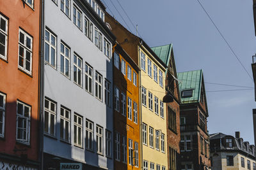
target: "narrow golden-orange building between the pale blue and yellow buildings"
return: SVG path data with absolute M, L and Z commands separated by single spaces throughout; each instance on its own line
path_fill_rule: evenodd
M 116 44 L 113 48 L 115 169 L 140 169 L 138 65 Z

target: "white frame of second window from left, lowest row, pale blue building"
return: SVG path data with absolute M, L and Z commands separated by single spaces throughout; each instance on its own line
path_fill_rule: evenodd
M 61 110 L 63 110 L 63 115 L 61 115 Z M 67 117 L 67 113 L 68 113 L 68 117 Z M 71 114 L 70 114 L 70 110 L 68 110 L 67 108 L 61 106 L 60 107 L 60 139 L 61 141 L 66 141 L 68 143 L 70 143 L 70 118 Z M 61 120 L 63 120 L 63 136 L 61 136 Z M 66 127 L 66 123 L 68 122 L 68 127 Z M 68 131 L 68 136 L 66 136 L 65 131 Z

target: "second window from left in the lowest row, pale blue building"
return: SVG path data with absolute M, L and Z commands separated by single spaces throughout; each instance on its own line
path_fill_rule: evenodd
M 60 138 L 70 142 L 70 111 L 60 108 Z

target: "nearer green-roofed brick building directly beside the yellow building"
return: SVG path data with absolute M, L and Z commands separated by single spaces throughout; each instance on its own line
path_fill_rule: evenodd
M 177 80 L 177 72 L 175 67 L 175 60 L 173 55 L 172 44 L 164 46 L 155 46 L 152 50 L 157 54 L 164 64 L 166 64 L 166 71 L 164 73 L 164 80 L 166 86 L 166 96 L 171 97 L 171 101 L 165 104 L 166 107 L 166 142 L 168 152 L 168 169 L 180 169 L 180 94 L 179 81 Z M 165 101 L 163 101 L 165 102 Z

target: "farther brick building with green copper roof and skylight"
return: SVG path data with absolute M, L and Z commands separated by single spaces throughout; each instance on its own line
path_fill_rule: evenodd
M 180 162 L 182 170 L 209 169 L 207 101 L 202 70 L 178 73 L 180 90 Z

